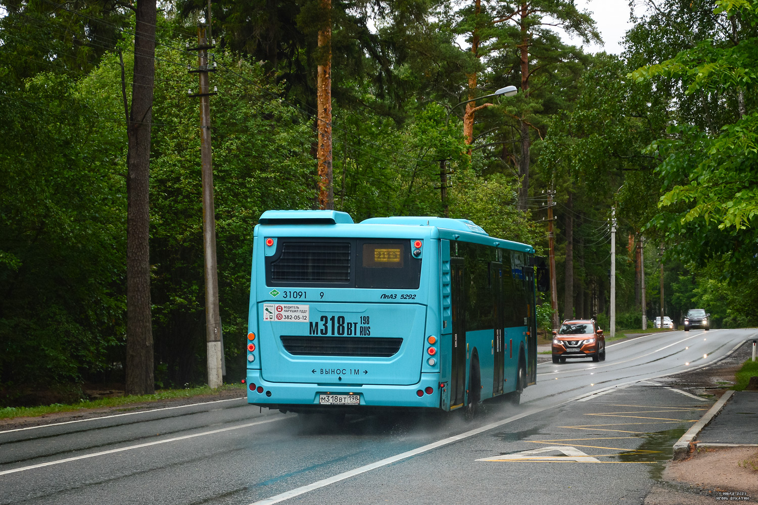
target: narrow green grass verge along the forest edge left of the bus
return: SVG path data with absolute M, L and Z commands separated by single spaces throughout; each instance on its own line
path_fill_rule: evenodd
M 216 394 L 221 391 L 240 389 L 244 390 L 244 384 L 224 384 L 221 388 L 211 389 L 207 385 L 197 388 L 186 389 L 161 389 L 155 394 L 120 396 L 113 398 L 100 398 L 99 400 L 80 401 L 76 404 L 52 404 L 40 407 L 5 407 L 0 409 L 0 419 L 13 419 L 14 417 L 37 417 L 57 412 L 75 412 L 82 409 L 97 409 L 101 407 L 121 407 L 130 404 L 143 404 L 154 401 L 170 400 L 172 398 L 188 398 L 202 396 L 203 394 Z

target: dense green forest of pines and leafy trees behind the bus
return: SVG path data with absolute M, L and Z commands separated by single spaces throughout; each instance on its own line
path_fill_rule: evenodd
M 543 255 L 552 211 L 558 315 L 603 328 L 615 209 L 619 328 L 658 315 L 661 286 L 675 321 L 758 324 L 758 0 L 631 3 L 609 55 L 556 31 L 601 42 L 572 0 L 0 0 L 0 407 L 124 382 L 139 142 L 155 387 L 205 382 L 199 26 L 228 381 L 253 226 L 324 207 L 324 180 L 356 222 L 448 214 Z

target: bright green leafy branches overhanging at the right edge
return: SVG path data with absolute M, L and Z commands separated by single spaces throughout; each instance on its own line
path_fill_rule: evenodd
M 673 246 L 667 256 L 690 264 L 697 279 L 686 289 L 684 280 L 678 283 L 678 303 L 689 298 L 704 304 L 730 325 L 754 321 L 753 310 L 730 312 L 732 302 L 744 307 L 740 301 L 747 297 L 748 305 L 758 303 L 758 114 L 750 111 L 758 92 L 756 5 L 716 2 L 709 17 L 703 8 L 713 27 L 705 40 L 629 74 L 638 82 L 684 89 L 675 95 L 681 98 L 675 117 L 682 120 L 672 121 L 666 136 L 646 151 L 659 161 L 663 189 L 649 226 Z M 694 108 L 703 115 L 692 120 L 690 105 L 699 98 L 715 98 L 722 113 Z

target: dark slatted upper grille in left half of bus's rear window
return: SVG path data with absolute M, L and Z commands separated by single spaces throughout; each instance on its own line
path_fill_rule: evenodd
M 271 263 L 274 281 L 349 282 L 350 244 L 284 242 L 280 257 Z

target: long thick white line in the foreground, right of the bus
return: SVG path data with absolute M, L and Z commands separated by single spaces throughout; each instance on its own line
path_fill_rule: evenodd
M 471 431 L 461 433 L 460 435 L 453 435 L 452 437 L 444 438 L 443 440 L 438 440 L 436 442 L 432 442 L 431 444 L 427 444 L 422 447 L 418 447 L 416 449 L 408 450 L 404 453 L 396 454 L 395 456 L 384 458 L 384 460 L 375 461 L 374 463 L 369 463 L 368 465 L 359 466 L 356 469 L 339 473 L 337 475 L 329 477 L 328 479 L 322 479 L 320 481 L 313 482 L 312 484 L 304 485 L 300 488 L 296 488 L 290 491 L 285 491 L 281 494 L 277 494 L 276 496 L 272 496 L 270 498 L 265 498 L 264 500 L 258 500 L 254 503 L 251 503 L 250 505 L 271 505 L 272 503 L 280 503 L 284 500 L 289 500 L 290 498 L 299 496 L 300 494 L 305 494 L 305 493 L 308 493 L 309 491 L 313 491 L 318 488 L 324 488 L 324 486 L 334 484 L 335 482 L 340 482 L 345 479 L 349 479 L 350 477 L 354 477 L 356 475 L 360 475 L 370 470 L 380 468 L 381 466 L 390 465 L 391 463 L 395 463 L 396 461 L 399 461 L 399 460 L 405 460 L 406 458 L 427 452 L 428 450 L 436 449 L 437 447 L 442 447 L 443 445 L 452 444 L 453 442 L 457 442 L 459 440 L 463 440 L 464 438 L 478 435 L 479 433 L 486 432 L 487 430 L 490 430 L 493 428 L 497 428 L 498 426 L 503 426 L 504 424 L 515 421 L 516 419 L 521 419 L 522 417 L 531 416 L 534 413 L 542 412 L 543 410 L 547 410 L 553 407 L 554 406 L 543 407 L 540 409 L 530 409 L 516 416 L 511 416 L 507 419 L 501 419 L 500 421 L 491 422 L 490 424 L 486 426 L 481 426 L 481 428 L 472 429 Z

